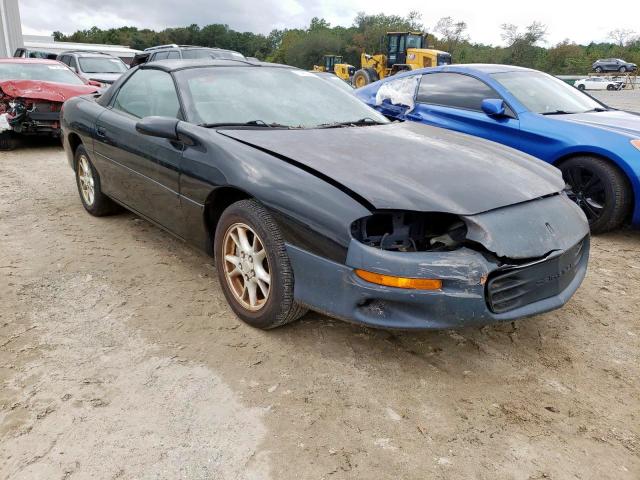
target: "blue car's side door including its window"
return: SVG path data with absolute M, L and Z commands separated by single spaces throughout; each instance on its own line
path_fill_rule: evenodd
M 481 108 L 485 99 L 502 99 L 483 81 L 461 73 L 423 74 L 408 120 L 476 135 L 519 148 L 520 122 L 505 103 L 504 116 L 491 117 Z

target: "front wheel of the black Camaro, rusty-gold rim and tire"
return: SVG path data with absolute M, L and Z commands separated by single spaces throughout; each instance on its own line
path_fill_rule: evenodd
M 280 230 L 255 200 L 222 213 L 214 252 L 224 295 L 243 322 L 266 330 L 306 313 L 293 298 L 293 270 Z

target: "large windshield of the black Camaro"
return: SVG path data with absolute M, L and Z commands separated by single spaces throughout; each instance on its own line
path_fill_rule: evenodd
M 349 92 L 303 70 L 207 67 L 180 70 L 175 77 L 192 123 L 313 128 L 363 119 L 388 122 Z

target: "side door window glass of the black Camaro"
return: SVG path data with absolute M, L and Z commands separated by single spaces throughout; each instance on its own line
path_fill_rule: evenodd
M 180 102 L 171 75 L 161 70 L 138 70 L 120 88 L 114 110 L 137 118 L 181 118 Z

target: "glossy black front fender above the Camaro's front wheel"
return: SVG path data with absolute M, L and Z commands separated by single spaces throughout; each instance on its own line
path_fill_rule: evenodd
M 184 151 L 180 193 L 201 207 L 200 222 L 211 192 L 233 187 L 269 209 L 287 243 L 344 263 L 351 223 L 369 215 L 367 208 L 285 160 L 215 131 L 188 124 L 181 128 L 193 145 Z

